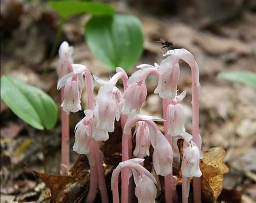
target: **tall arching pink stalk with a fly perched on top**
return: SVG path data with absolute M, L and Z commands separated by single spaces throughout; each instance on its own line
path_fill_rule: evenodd
M 192 89 L 192 134 L 193 140 L 201 149 L 199 134 L 199 67 L 194 56 L 186 49 L 175 49 L 167 52 L 167 55 L 176 55 L 178 59 L 184 60 L 191 68 L 191 89 Z M 201 180 L 193 178 L 194 202 L 201 203 Z

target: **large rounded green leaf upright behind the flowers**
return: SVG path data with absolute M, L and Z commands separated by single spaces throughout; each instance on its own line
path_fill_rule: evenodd
M 130 69 L 141 56 L 143 33 L 140 21 L 129 15 L 93 16 L 85 29 L 87 44 L 107 66 Z

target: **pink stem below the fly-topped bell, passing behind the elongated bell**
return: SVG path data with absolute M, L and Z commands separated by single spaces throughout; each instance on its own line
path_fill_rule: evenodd
M 164 120 L 167 120 L 167 107 L 169 105 L 169 99 L 163 98 L 163 117 Z M 165 137 L 172 146 L 172 137 L 168 136 L 168 123 L 167 121 L 164 122 L 165 127 Z M 165 176 L 165 202 L 172 203 L 173 202 L 173 174 L 169 174 Z

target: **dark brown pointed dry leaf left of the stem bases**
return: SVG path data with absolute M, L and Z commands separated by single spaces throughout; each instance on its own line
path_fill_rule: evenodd
M 68 184 L 75 182 L 74 178 L 70 176 L 54 176 L 50 174 L 36 172 L 34 170 L 31 170 L 30 168 L 27 169 L 36 174 L 51 190 L 52 201 L 54 201 L 57 198 L 58 194 L 61 191 L 65 190 Z

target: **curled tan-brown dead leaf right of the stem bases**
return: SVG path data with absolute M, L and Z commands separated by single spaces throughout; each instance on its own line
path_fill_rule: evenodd
M 223 174 L 229 172 L 228 166 L 223 163 L 225 150 L 222 146 L 211 148 L 205 152 L 201 160 L 202 195 L 209 202 L 216 202 L 223 187 Z

